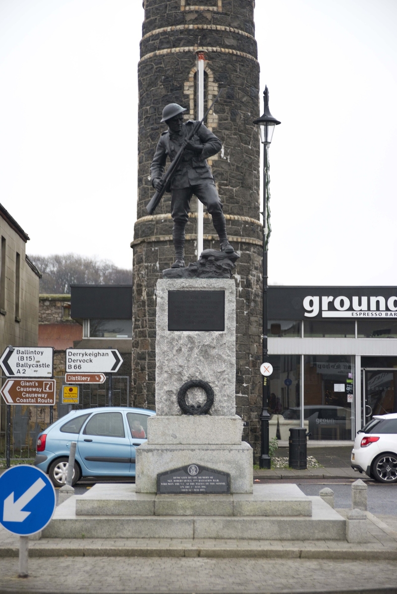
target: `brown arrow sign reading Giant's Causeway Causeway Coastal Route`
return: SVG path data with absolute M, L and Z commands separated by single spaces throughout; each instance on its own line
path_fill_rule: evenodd
M 6 380 L 0 393 L 8 405 L 55 405 L 55 380 Z

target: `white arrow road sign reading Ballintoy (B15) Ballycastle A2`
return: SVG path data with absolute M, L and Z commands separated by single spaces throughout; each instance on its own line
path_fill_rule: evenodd
M 5 375 L 52 377 L 52 346 L 8 346 L 0 358 Z

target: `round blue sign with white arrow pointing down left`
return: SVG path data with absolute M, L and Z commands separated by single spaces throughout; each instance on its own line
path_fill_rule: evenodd
M 55 511 L 55 489 L 42 470 L 13 466 L 0 476 L 0 524 L 29 536 L 45 528 Z

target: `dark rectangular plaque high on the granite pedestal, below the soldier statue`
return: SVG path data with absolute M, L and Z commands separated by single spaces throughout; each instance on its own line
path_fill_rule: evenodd
M 225 330 L 225 291 L 168 291 L 168 330 Z

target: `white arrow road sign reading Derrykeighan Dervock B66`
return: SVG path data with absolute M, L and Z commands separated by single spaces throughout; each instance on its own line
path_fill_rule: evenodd
M 116 349 L 66 349 L 67 373 L 115 373 L 122 361 Z

